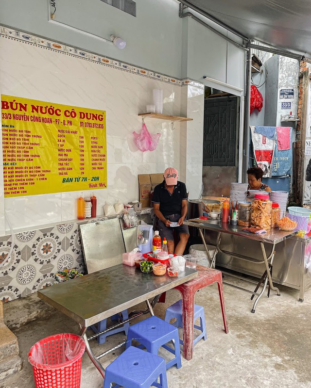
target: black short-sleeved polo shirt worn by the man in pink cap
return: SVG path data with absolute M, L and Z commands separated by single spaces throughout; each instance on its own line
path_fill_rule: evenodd
M 173 194 L 165 187 L 165 180 L 155 186 L 155 191 L 152 195 L 152 202 L 160 204 L 160 211 L 164 216 L 171 214 L 181 214 L 181 202 L 183 199 L 188 199 L 186 185 L 177 180 Z

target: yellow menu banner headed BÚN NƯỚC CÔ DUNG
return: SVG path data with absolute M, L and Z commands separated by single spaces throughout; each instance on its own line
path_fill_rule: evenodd
M 1 96 L 4 196 L 107 187 L 106 114 Z

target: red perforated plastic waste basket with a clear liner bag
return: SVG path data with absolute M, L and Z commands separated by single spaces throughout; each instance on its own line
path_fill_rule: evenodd
M 36 388 L 80 388 L 82 356 L 86 344 L 76 334 L 46 337 L 30 349 Z

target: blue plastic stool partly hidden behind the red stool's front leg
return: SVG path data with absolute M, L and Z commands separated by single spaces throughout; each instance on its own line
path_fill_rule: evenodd
M 166 309 L 165 313 L 165 321 L 170 322 L 171 319 L 176 318 L 176 322 L 172 323 L 176 327 L 183 327 L 183 313 L 182 313 L 182 300 L 180 299 L 178 302 L 174 303 L 172 306 Z M 200 318 L 200 326 L 195 324 L 195 321 Z M 193 339 L 193 346 L 201 339 L 207 339 L 206 333 L 206 324 L 205 324 L 205 314 L 204 307 L 199 305 L 194 305 L 194 316 L 193 316 L 194 328 L 201 331 L 195 339 Z M 180 344 L 183 345 L 184 341 L 182 339 L 179 340 Z

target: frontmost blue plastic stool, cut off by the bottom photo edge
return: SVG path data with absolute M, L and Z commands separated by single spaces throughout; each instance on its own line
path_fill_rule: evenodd
M 168 388 L 164 358 L 130 346 L 106 368 L 104 388 L 112 383 L 114 388 Z

